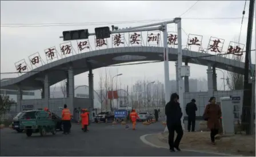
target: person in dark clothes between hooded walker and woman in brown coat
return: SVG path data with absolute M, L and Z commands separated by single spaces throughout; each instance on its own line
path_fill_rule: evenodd
M 195 100 L 192 99 L 191 102 L 186 105 L 186 114 L 187 114 L 187 131 L 190 132 L 190 127 L 192 123 L 192 132 L 195 131 L 195 116 L 197 111 L 197 105 L 195 104 Z

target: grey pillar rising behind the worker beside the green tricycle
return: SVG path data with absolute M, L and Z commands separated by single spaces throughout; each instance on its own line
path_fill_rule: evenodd
M 67 108 L 69 108 L 69 110 L 71 111 L 71 113 L 74 115 L 74 93 L 75 93 L 75 81 L 74 81 L 74 72 L 73 72 L 73 67 L 69 67 L 68 70 L 68 88 L 69 88 L 69 95 L 67 95 L 68 97 L 68 103 L 67 103 Z

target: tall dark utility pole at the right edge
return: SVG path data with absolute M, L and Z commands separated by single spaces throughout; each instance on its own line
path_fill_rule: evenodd
M 252 101 L 252 84 L 249 83 L 249 56 L 251 53 L 251 36 L 253 31 L 253 14 L 254 14 L 254 2 L 255 0 L 250 0 L 249 5 L 249 19 L 247 26 L 247 39 L 246 39 L 246 52 L 245 52 L 245 73 L 243 81 L 243 107 L 242 107 L 242 126 L 246 131 L 246 134 L 251 134 L 251 114 L 253 114 L 253 109 L 251 108 Z

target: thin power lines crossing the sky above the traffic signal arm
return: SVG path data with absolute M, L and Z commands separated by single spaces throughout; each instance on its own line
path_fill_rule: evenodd
M 241 17 L 236 18 L 182 18 L 191 20 L 228 20 L 228 19 L 242 19 Z M 247 19 L 247 18 L 243 18 Z M 97 26 L 103 24 L 129 24 L 129 23 L 148 23 L 148 22 L 159 22 L 172 19 L 151 19 L 151 20 L 131 20 L 131 21 L 119 21 L 119 22 L 84 22 L 84 23 L 1 23 L 1 27 L 53 27 L 53 26 Z

